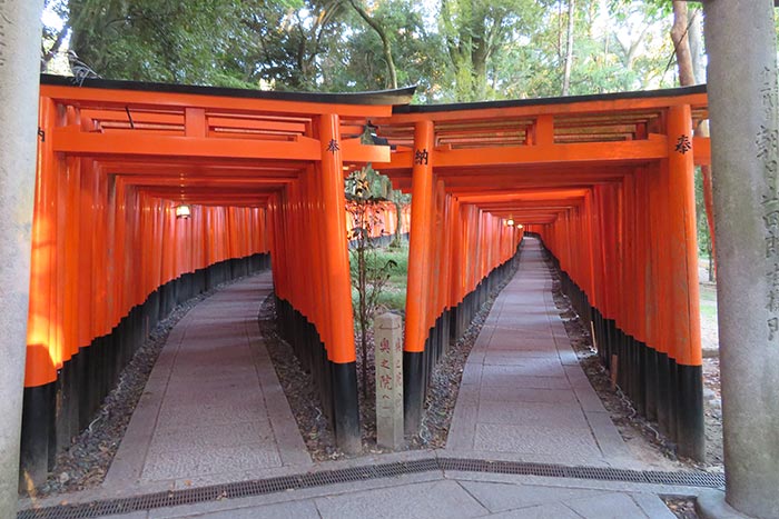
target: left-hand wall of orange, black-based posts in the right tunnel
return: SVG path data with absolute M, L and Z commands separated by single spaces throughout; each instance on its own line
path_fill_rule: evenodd
M 408 289 L 403 358 L 405 431 L 418 431 L 430 377 L 510 270 L 522 231 L 461 203 L 436 179 L 435 128 L 414 131 Z

